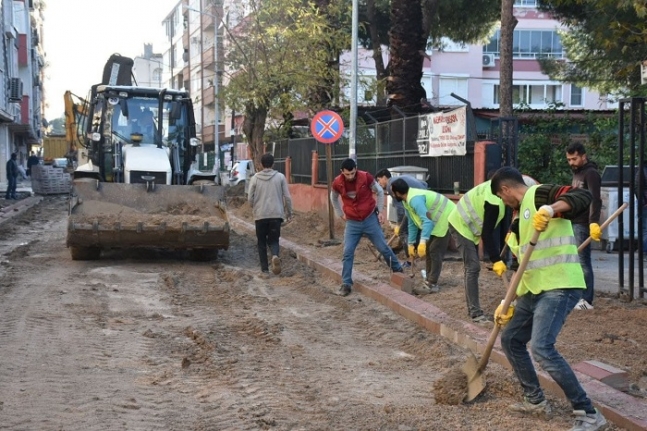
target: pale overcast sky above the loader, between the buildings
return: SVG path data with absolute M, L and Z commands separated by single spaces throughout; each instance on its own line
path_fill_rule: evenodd
M 114 53 L 136 57 L 144 43 L 163 52 L 162 20 L 179 0 L 47 0 L 42 35 L 45 50 L 45 118 L 63 116 L 66 90 L 87 97 L 101 81 Z

